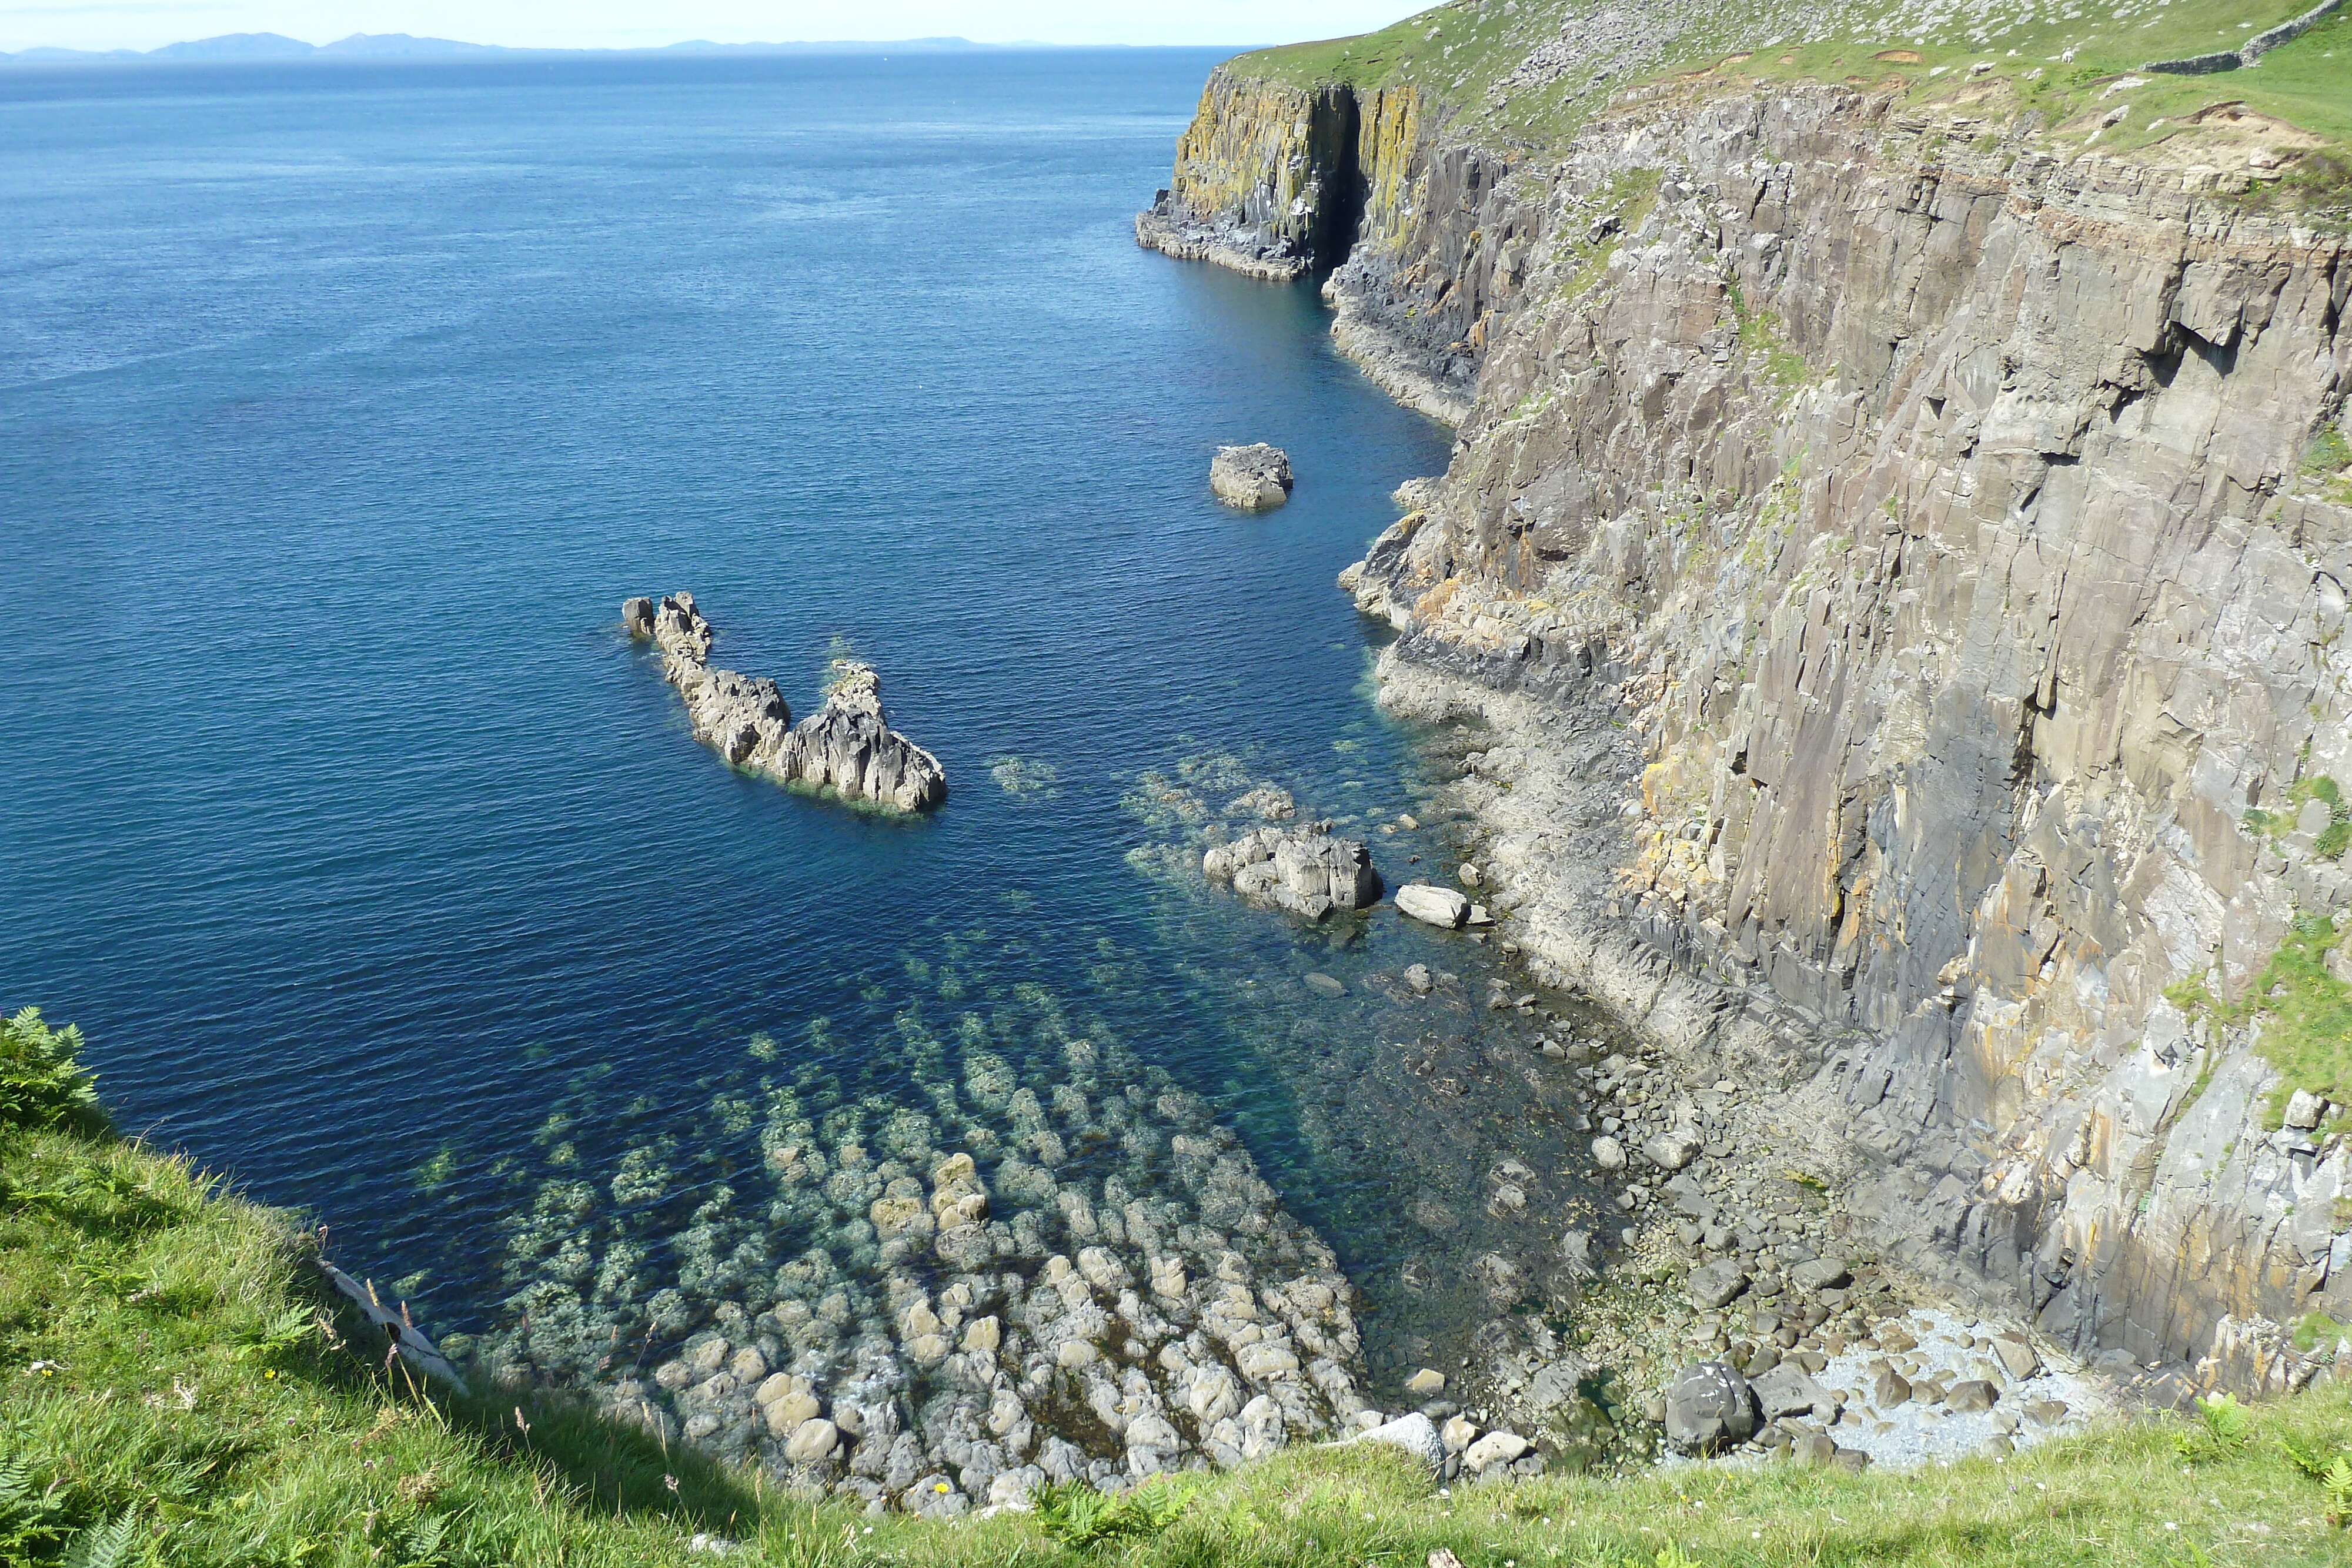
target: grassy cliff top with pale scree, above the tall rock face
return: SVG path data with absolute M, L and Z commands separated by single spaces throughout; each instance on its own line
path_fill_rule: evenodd
M 1454 106 L 1470 134 L 1524 150 L 1564 143 L 1644 87 L 1842 82 L 1891 89 L 1915 115 L 1978 120 L 1987 134 L 2027 136 L 2056 153 L 2098 148 L 2244 169 L 2258 190 L 2333 202 L 2352 186 L 2352 12 L 2338 9 L 2237 71 L 2140 71 L 2234 49 L 2305 9 L 2307 0 L 1668 0 L 1639 9 L 1454 0 L 1378 33 L 1258 49 L 1228 68 L 1291 85 L 1409 82 Z M 2274 158 L 2277 169 L 2251 165 L 2249 153 Z

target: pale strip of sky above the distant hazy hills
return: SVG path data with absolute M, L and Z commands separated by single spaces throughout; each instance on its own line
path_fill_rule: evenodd
M 687 38 L 793 42 L 962 35 L 978 42 L 1258 45 L 1341 38 L 1430 0 L 0 0 L 0 49 L 153 49 L 214 33 L 416 33 L 541 49 L 630 49 Z

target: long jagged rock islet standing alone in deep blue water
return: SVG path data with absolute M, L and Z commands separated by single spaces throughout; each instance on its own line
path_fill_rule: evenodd
M 870 665 L 837 661 L 823 708 L 793 726 L 776 682 L 710 668 L 710 621 L 691 592 L 626 599 L 621 623 L 661 649 L 661 675 L 687 705 L 694 738 L 729 764 L 840 799 L 924 811 L 948 797 L 938 757 L 889 726 Z

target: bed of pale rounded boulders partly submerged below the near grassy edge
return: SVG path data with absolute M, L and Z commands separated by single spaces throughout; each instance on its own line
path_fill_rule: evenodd
M 903 1018 L 896 1095 L 769 1084 L 764 1159 L 670 1239 L 675 1284 L 593 1190 L 543 1187 L 492 1375 L 917 1514 L 1376 1425 L 1345 1274 L 1209 1103 L 1044 992 L 1007 1011 L 957 1041 Z

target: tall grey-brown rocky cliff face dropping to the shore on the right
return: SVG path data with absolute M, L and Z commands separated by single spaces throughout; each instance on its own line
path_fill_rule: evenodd
M 1809 1070 L 1915 1267 L 2291 1382 L 2352 1316 L 2352 247 L 1985 113 L 1698 73 L 1508 160 L 1418 103 L 1331 294 L 1475 397 L 1343 583 L 1395 705 L 1496 724 L 1543 971 Z

